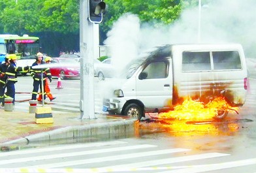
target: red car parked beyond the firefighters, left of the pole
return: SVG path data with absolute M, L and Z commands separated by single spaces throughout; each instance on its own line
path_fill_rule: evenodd
M 52 57 L 50 65 L 52 76 L 59 76 L 61 79 L 80 77 L 80 63 L 74 59 L 65 57 Z

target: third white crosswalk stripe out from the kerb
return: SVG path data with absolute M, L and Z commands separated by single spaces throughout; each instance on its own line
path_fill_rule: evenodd
M 152 155 L 162 155 L 167 153 L 177 153 L 183 151 L 189 151 L 190 149 L 184 148 L 175 148 L 175 149 L 163 149 L 163 150 L 156 150 L 156 151 L 146 151 L 146 152 L 138 152 L 138 153 L 127 153 L 123 155 L 113 155 L 108 157 L 97 157 L 93 159 L 84 159 L 84 160 L 76 160 L 76 161 L 65 161 L 65 162 L 58 162 L 46 165 L 36 165 L 36 166 L 29 166 L 29 168 L 61 168 L 67 166 L 74 166 L 74 165 L 86 165 L 89 163 L 101 163 L 106 161 L 116 161 L 121 159 L 133 159 L 137 157 L 146 157 Z M 1 163 L 1 162 L 0 162 Z

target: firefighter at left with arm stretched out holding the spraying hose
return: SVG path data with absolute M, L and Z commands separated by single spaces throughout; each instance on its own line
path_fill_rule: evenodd
M 12 104 L 15 102 L 15 86 L 14 84 L 17 81 L 17 72 L 28 72 L 29 66 L 26 67 L 16 67 L 16 54 L 8 54 L 7 55 L 7 69 L 5 75 L 7 76 L 7 81 L 5 82 L 5 86 L 7 87 L 7 92 L 5 93 L 5 98 L 11 97 Z

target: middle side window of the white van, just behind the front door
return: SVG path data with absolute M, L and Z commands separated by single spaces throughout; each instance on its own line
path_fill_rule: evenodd
M 182 71 L 211 70 L 210 52 L 183 52 Z

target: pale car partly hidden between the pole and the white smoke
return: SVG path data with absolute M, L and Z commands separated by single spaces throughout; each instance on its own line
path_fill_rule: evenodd
M 95 76 L 99 80 L 104 80 L 104 78 L 111 78 L 113 74 L 113 66 L 111 65 L 111 58 L 104 59 L 101 63 L 96 63 L 95 65 Z

